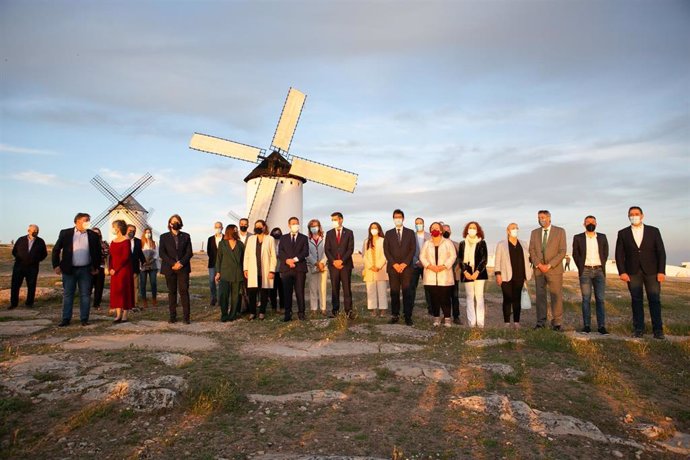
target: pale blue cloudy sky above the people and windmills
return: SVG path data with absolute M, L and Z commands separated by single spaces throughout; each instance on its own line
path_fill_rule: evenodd
M 290 87 L 290 153 L 359 174 L 308 182 L 304 218 L 478 221 L 490 248 L 549 209 L 610 244 L 641 206 L 669 263 L 690 261 L 687 1 L 0 0 L 0 240 L 48 242 L 145 173 L 138 196 L 195 249 L 246 214 L 248 162 L 188 148 L 203 132 L 268 148 Z M 613 254 L 612 254 L 613 256 Z

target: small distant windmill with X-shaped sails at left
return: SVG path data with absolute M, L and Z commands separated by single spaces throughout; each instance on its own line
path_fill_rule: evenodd
M 96 175 L 91 179 L 91 183 L 96 187 L 103 195 L 105 195 L 111 202 L 105 211 L 103 211 L 98 217 L 96 217 L 92 225 L 94 227 L 99 227 L 106 219 L 108 219 L 108 228 L 102 229 L 103 237 L 105 239 L 110 239 L 110 227 L 113 222 L 121 219 L 127 222 L 127 224 L 132 224 L 137 228 L 138 237 L 144 231 L 145 227 L 150 227 L 148 223 L 148 217 L 153 212 L 147 211 L 139 202 L 134 198 L 138 195 L 144 188 L 148 187 L 151 182 L 153 182 L 153 176 L 146 173 L 138 181 L 136 181 L 130 188 L 128 188 L 124 193 L 119 194 L 115 191 L 113 187 L 110 186 L 101 176 Z

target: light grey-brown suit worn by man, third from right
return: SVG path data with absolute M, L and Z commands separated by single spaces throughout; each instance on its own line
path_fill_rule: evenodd
M 537 326 L 544 326 L 547 320 L 546 291 L 551 294 L 551 325 L 561 325 L 563 319 L 563 258 L 567 248 L 565 230 L 551 226 L 546 250 L 542 252 L 543 228 L 532 230 L 529 239 L 529 256 L 534 265 L 534 280 L 537 291 Z M 539 264 L 548 264 L 551 268 L 542 273 Z

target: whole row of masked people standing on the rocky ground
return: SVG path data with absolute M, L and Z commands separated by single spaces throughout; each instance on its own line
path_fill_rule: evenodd
M 220 307 L 221 321 L 232 321 L 242 313 L 249 319 L 265 318 L 269 300 L 274 310 L 284 312 L 283 320 L 291 321 L 293 294 L 297 301 L 297 317 L 306 319 L 305 289 L 309 284 L 312 312 L 335 317 L 340 313 L 341 293 L 344 314 L 355 317 L 352 307 L 352 271 L 354 269 L 354 234 L 343 226 L 340 212 L 331 214 L 332 228 L 327 232 L 318 219 L 307 224 L 302 233 L 297 217 L 287 224 L 289 232 L 269 228 L 265 221 L 241 219 L 236 225 L 223 227 L 216 222 L 215 234 L 207 244 L 211 305 Z M 393 212 L 393 228 L 383 232 L 381 224 L 372 222 L 362 246 L 367 308 L 374 316 L 388 311 L 390 291 L 390 323 L 403 317 L 413 324 L 412 313 L 419 280 L 424 286 L 428 313 L 433 325 L 451 327 L 461 324 L 459 287 L 464 286 L 467 321 L 471 327 L 484 327 L 484 288 L 488 280 L 488 247 L 478 222 L 465 225 L 462 240 L 451 239 L 451 227 L 433 222 L 426 231 L 424 220 L 415 219 L 415 229 L 404 226 L 405 214 Z M 656 227 L 643 223 L 644 214 L 638 206 L 628 210 L 630 226 L 618 232 L 615 249 L 619 277 L 626 282 L 631 295 L 633 334 L 645 332 L 643 294 L 646 291 L 655 338 L 663 339 L 660 287 L 665 280 L 666 253 Z M 494 275 L 503 294 L 503 319 L 506 326 L 520 327 L 523 290 L 532 276 L 536 286 L 536 326 L 560 331 L 563 319 L 563 261 L 566 256 L 566 232 L 551 224 L 551 213 L 537 214 L 539 227 L 531 232 L 529 243 L 519 239 L 519 227 L 510 223 L 506 239 L 495 249 Z M 182 218 L 174 214 L 168 219 L 168 232 L 156 245 L 150 228 L 143 238 L 136 238 L 136 227 L 122 220 L 112 223 L 110 245 L 100 231 L 90 230 L 90 216 L 79 213 L 74 227 L 60 232 L 52 252 L 52 265 L 62 275 L 63 315 L 60 326 L 72 319 L 77 287 L 80 296 L 80 320 L 88 324 L 90 298 L 95 288 L 94 307 L 101 302 L 104 278 L 110 276 L 110 308 L 115 322 L 127 321 L 135 308 L 139 290 L 143 308 L 148 306 L 147 281 L 152 302 L 156 305 L 158 270 L 168 288 L 169 321 L 177 321 L 178 299 L 182 304 L 185 323 L 190 323 L 189 277 L 192 243 L 182 231 Z M 606 329 L 605 288 L 606 261 L 609 246 L 606 235 L 596 231 L 594 216 L 587 216 L 585 231 L 573 238 L 572 258 L 579 273 L 582 294 L 583 327 L 590 333 L 591 297 L 594 293 L 597 329 Z M 15 264 L 12 273 L 10 308 L 18 304 L 19 287 L 26 279 L 26 305 L 34 302 L 38 264 L 47 257 L 45 242 L 38 237 L 38 226 L 31 225 L 28 234 L 17 240 L 12 251 Z M 328 278 L 331 280 L 331 311 L 326 311 Z M 137 287 L 138 285 L 138 287 Z M 258 300 L 258 306 L 257 306 Z M 258 308 L 257 308 L 258 307 Z M 512 321 L 511 321 L 512 320 Z

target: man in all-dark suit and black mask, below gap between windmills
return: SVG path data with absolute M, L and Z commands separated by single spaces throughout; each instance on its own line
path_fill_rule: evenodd
M 182 217 L 173 214 L 168 219 L 169 232 L 161 235 L 158 253 L 161 258 L 161 273 L 168 286 L 168 322 L 177 322 L 177 293 L 180 293 L 182 315 L 185 324 L 191 322 L 189 308 L 189 274 L 192 271 L 190 262 L 193 257 L 192 239 L 182 232 Z

